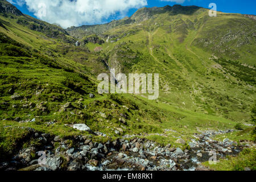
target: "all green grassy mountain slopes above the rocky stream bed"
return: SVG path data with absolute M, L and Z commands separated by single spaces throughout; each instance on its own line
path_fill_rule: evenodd
M 38 142 L 27 129 L 97 142 L 136 135 L 189 149 L 195 133 L 239 124 L 247 134 L 229 138 L 255 140 L 255 26 L 244 15 L 176 5 L 64 30 L 0 0 L 0 162 Z M 158 100 L 98 94 L 97 76 L 109 68 L 159 73 Z M 71 127 L 78 123 L 93 134 Z

